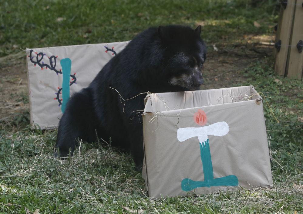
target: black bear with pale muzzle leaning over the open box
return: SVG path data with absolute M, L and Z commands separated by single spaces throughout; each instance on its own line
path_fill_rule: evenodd
M 203 84 L 201 67 L 206 46 L 196 30 L 179 25 L 149 28 L 138 34 L 97 74 L 89 87 L 70 97 L 58 128 L 56 148 L 61 157 L 84 142 L 112 138 L 112 146 L 130 148 L 136 166 L 143 162 L 144 92 L 196 90 Z M 133 99 L 121 103 L 124 99 Z M 124 112 L 123 112 L 124 108 Z M 134 117 L 134 118 L 133 118 Z M 130 121 L 130 119 L 132 121 Z M 57 155 L 57 153 L 55 154 Z

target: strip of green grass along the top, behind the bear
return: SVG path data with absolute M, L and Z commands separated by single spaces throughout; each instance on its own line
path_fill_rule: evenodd
M 264 33 L 277 20 L 274 0 L 259 1 L 29 1 L 0 2 L 0 56 L 47 46 L 127 41 L 157 25 L 205 22 L 206 42 L 228 40 L 245 33 Z M 265 3 L 266 2 L 266 3 Z M 261 8 L 261 9 L 259 9 Z M 273 14 L 274 13 L 274 14 Z M 62 21 L 57 21 L 62 18 Z M 226 22 L 228 20 L 228 22 Z M 255 28 L 254 21 L 262 23 Z

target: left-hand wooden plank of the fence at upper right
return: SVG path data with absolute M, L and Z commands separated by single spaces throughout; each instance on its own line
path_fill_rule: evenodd
M 290 42 L 293 16 L 295 12 L 295 3 L 296 0 L 288 0 L 288 4 L 283 12 L 282 24 L 280 29 L 281 31 L 279 36 L 279 39 L 281 40 L 281 47 L 280 51 L 276 53 L 276 60 L 274 66 L 274 71 L 278 75 L 285 75 L 289 49 L 288 45 Z

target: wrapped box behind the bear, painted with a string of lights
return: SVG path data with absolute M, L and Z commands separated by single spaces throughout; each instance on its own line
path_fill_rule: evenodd
M 57 127 L 69 96 L 86 88 L 127 44 L 26 49 L 31 124 L 41 128 Z

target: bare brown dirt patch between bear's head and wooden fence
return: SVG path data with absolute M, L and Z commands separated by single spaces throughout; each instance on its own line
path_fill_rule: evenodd
M 242 75 L 244 68 L 257 60 L 264 60 L 273 53 L 273 46 L 259 42 L 247 45 L 235 45 L 233 48 L 217 46 L 218 51 L 210 50 L 204 66 L 204 85 L 201 89 L 231 87 L 244 82 Z

